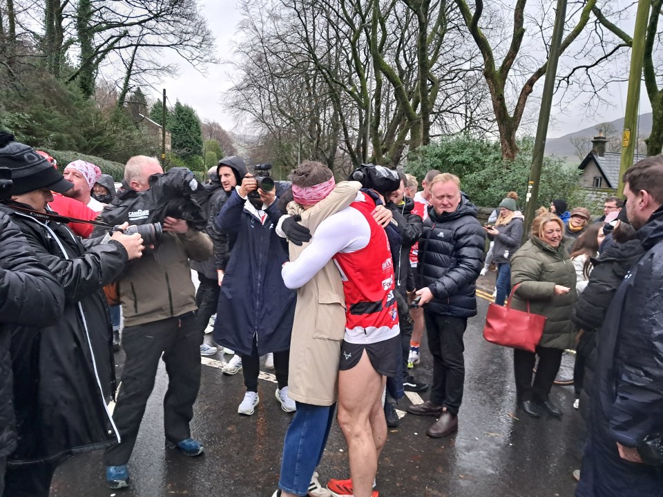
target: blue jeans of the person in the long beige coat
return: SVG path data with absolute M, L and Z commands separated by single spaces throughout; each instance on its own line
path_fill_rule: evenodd
M 297 411 L 283 441 L 283 457 L 278 487 L 296 496 L 309 491 L 311 476 L 323 458 L 334 407 L 296 402 Z

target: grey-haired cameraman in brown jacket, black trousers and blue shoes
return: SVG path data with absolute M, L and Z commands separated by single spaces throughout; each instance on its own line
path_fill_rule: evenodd
M 145 201 L 153 199 L 150 188 L 159 177 L 163 177 L 163 169 L 157 159 L 144 155 L 131 157 L 124 169 L 124 182 L 131 192 L 106 206 L 102 218 L 117 219 L 116 215 L 126 215 L 130 220 L 145 221 L 149 211 L 158 206 L 148 204 L 140 211 L 133 210 L 132 206 L 136 205 L 138 197 Z M 163 224 L 141 224 L 137 228 L 150 230 L 155 240 L 154 248 L 128 266 L 118 282 L 124 314 L 122 349 L 126 362 L 122 388 L 113 411 L 122 442 L 106 449 L 104 454 L 106 484 L 111 488 L 128 486 L 126 464 L 162 355 L 169 378 L 164 400 L 166 446 L 186 456 L 203 452 L 202 444 L 191 438 L 189 426 L 200 387 L 202 340 L 195 330 L 195 290 L 189 259 L 205 260 L 212 253 L 212 242 L 209 236 L 196 231 L 186 221 L 169 215 L 163 218 Z

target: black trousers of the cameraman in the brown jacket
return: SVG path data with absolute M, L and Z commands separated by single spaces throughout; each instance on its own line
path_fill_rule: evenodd
M 125 465 L 131 457 L 162 353 L 168 373 L 166 440 L 181 442 L 191 436 L 189 422 L 200 387 L 200 332 L 195 329 L 193 313 L 125 327 L 122 349 L 126 362 L 113 411 L 122 442 L 106 449 L 104 462 L 108 466 Z

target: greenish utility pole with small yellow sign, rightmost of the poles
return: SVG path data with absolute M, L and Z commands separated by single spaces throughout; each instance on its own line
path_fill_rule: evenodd
M 624 133 L 622 133 L 622 162 L 619 163 L 619 186 L 617 195 L 624 191 L 622 177 L 626 170 L 633 166 L 633 155 L 637 147 L 637 109 L 640 106 L 640 81 L 642 81 L 642 64 L 644 63 L 644 42 L 649 17 L 651 0 L 638 0 L 635 14 L 635 31 L 631 48 L 631 72 L 628 75 L 628 92 L 626 93 L 626 114 L 624 115 Z

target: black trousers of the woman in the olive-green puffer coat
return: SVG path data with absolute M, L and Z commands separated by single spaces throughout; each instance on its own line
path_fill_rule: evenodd
M 561 349 L 537 347 L 536 352 L 513 349 L 513 372 L 516 378 L 516 395 L 519 400 L 546 400 L 553 388 L 555 376 L 561 364 Z M 532 371 L 539 356 L 537 373 L 532 382 Z

